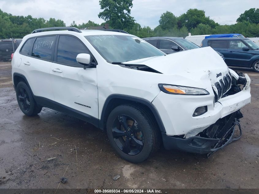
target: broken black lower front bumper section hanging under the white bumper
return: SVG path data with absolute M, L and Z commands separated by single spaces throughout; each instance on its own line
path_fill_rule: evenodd
M 240 110 L 219 119 L 196 136 L 184 139 L 183 135 L 168 136 L 162 134 L 164 147 L 167 150 L 177 149 L 190 153 L 208 154 L 208 157 L 227 144 L 241 137 L 239 119 Z M 238 130 L 236 130 L 238 127 Z

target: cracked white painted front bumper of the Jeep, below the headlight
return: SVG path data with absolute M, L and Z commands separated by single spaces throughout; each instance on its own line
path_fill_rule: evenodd
M 250 79 L 248 76 L 246 78 L 247 83 L 242 91 L 223 97 L 215 104 L 213 103 L 214 93 L 210 90 L 208 90 L 209 95 L 203 96 L 173 95 L 161 91 L 152 104 L 159 112 L 166 134 L 185 135 L 199 128 L 203 130 L 249 104 L 251 101 Z M 193 117 L 195 109 L 201 106 L 207 106 L 208 111 Z

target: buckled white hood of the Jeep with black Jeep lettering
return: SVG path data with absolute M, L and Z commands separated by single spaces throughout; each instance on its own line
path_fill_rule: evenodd
M 143 64 L 162 74 L 177 75 L 193 81 L 208 80 L 209 77 L 211 85 L 223 79 L 229 71 L 226 63 L 211 47 L 138 59 L 124 62 L 124 64 Z

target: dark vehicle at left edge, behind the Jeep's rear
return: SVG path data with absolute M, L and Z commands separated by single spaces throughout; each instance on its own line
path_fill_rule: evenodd
M 9 61 L 20 43 L 21 39 L 0 40 L 0 61 Z

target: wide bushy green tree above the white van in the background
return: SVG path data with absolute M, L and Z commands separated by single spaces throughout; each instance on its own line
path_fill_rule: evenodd
M 210 17 L 205 16 L 204 10 L 198 9 L 189 9 L 186 13 L 182 14 L 178 18 L 178 28 L 181 26 L 186 26 L 188 30 L 196 28 L 199 24 L 207 24 L 211 28 L 215 28 L 218 23 L 215 23 L 214 20 L 211 20 Z

